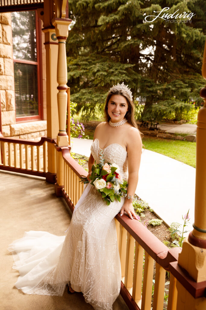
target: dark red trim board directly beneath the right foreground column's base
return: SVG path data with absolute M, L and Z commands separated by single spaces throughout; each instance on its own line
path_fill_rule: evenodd
M 195 282 L 188 272 L 181 268 L 177 262 L 170 263 L 170 271 L 194 298 L 206 297 L 206 281 Z

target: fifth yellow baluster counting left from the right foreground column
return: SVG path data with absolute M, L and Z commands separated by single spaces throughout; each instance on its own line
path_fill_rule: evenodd
M 134 246 L 135 239 L 127 232 L 127 250 L 126 250 L 126 263 L 125 263 L 125 280 L 124 286 L 132 294 L 133 283 L 133 268 L 134 268 Z

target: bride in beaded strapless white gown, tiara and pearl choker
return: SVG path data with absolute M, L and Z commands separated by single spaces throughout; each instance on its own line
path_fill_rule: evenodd
M 106 122 L 95 130 L 87 178 L 90 180 L 91 167 L 99 162 L 102 150 L 105 162 L 119 166 L 123 179 L 128 180 L 127 193 L 133 196 L 142 142 L 132 92 L 124 82 L 111 87 L 104 111 Z M 132 199 L 121 197 L 120 202 L 107 206 L 94 186 L 88 189 L 74 210 L 66 236 L 29 231 L 9 246 L 15 253 L 13 268 L 19 270 L 15 286 L 27 294 L 62 296 L 68 284 L 68 293 L 82 292 L 95 310 L 111 310 L 121 284 L 114 217 L 119 212 L 121 216 L 126 212 L 131 220 L 137 216 Z

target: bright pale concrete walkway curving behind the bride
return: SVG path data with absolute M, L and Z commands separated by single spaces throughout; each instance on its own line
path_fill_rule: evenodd
M 72 152 L 90 156 L 92 140 L 74 138 L 72 141 Z M 136 194 L 168 225 L 182 224 L 182 215 L 190 209 L 187 230 L 193 229 L 195 168 L 143 149 Z

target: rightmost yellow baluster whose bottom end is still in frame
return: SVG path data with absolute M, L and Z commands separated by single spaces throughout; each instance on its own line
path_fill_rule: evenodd
M 134 259 L 134 279 L 132 298 L 141 308 L 141 289 L 142 289 L 142 270 L 143 270 L 144 249 L 135 241 L 135 259 Z

